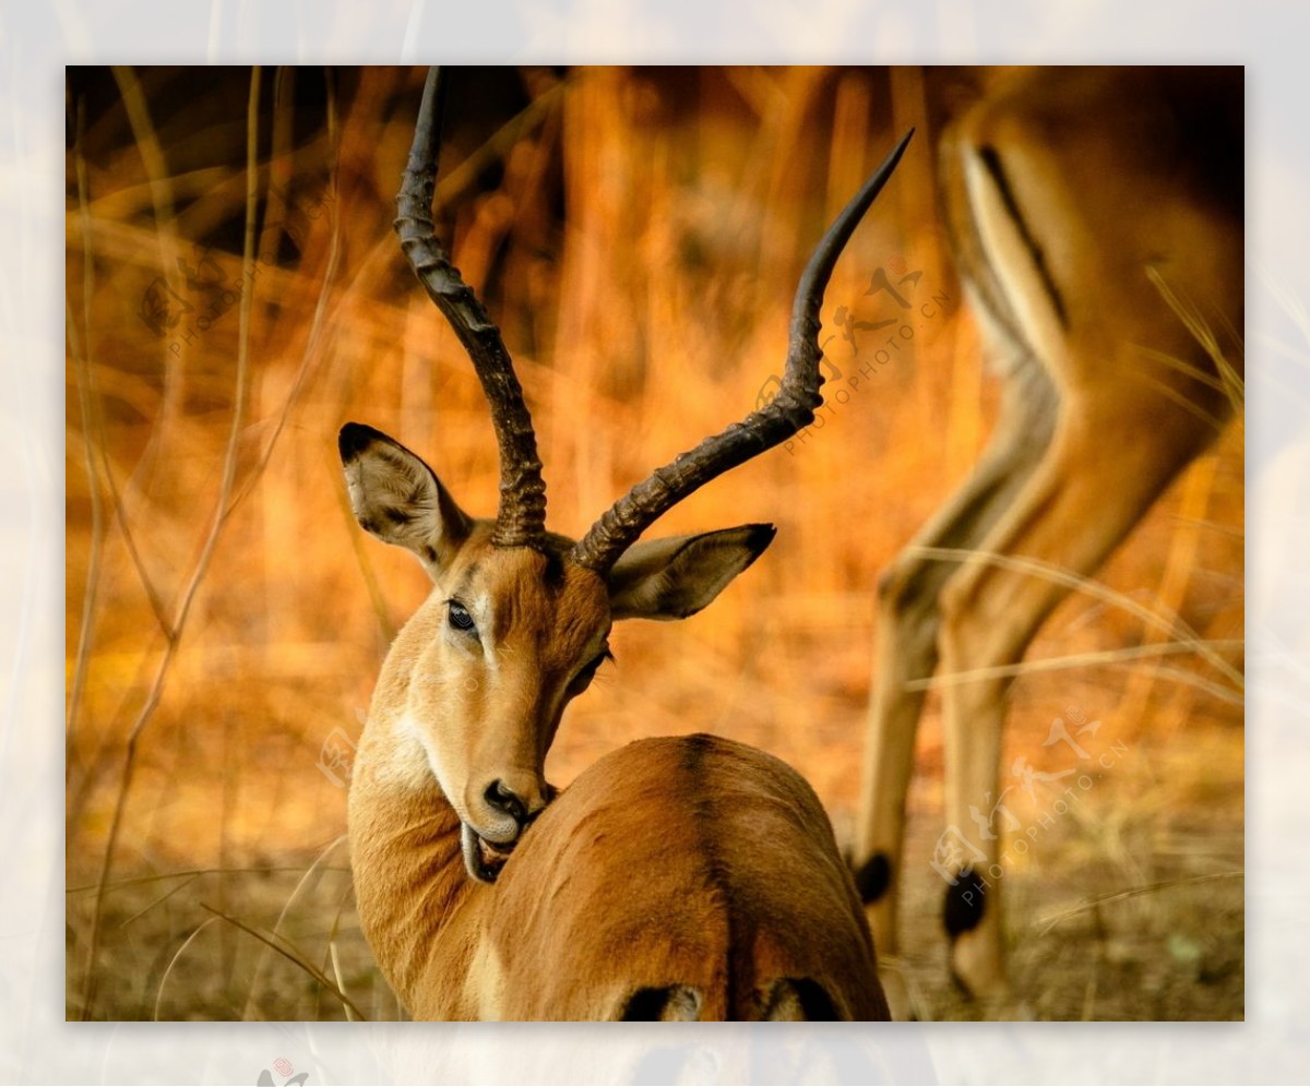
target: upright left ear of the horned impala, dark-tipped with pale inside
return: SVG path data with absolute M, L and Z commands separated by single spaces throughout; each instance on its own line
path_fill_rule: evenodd
M 413 551 L 430 574 L 449 562 L 473 521 L 423 458 L 362 423 L 346 423 L 337 448 L 360 528 Z

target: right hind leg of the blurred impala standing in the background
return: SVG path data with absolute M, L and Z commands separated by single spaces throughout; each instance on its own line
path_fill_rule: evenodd
M 986 553 L 1020 555 L 1090 574 L 1137 524 L 1208 439 L 1176 420 L 1098 413 L 1074 406 L 1014 507 L 956 568 L 942 592 L 943 677 L 1018 663 L 1068 588 L 998 566 Z M 1099 422 L 1098 422 L 1099 420 Z M 1114 451 L 1106 456 L 1104 451 Z M 1001 728 L 1011 681 L 948 684 L 942 695 L 947 836 L 972 843 L 946 888 L 951 967 L 969 991 L 1002 991 L 998 839 L 979 839 L 971 805 L 988 811 L 1000 795 Z M 945 838 L 946 836 L 943 836 Z M 941 851 L 939 851 L 941 853 Z M 972 860 L 972 863 L 969 863 Z

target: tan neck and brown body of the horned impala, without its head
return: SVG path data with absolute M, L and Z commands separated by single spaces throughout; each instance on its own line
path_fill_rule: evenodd
M 629 744 L 542 813 L 490 885 L 464 871 L 438 790 L 356 778 L 360 915 L 417 1019 L 618 1019 L 639 990 L 673 986 L 700 997 L 701 1019 L 761 1019 L 794 980 L 837 1018 L 888 1018 L 828 819 L 764 752 Z

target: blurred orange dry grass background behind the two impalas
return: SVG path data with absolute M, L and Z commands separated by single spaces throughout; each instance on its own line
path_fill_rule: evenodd
M 329 756 L 348 762 L 427 583 L 355 526 L 335 433 L 394 435 L 477 513 L 498 471 L 472 367 L 390 230 L 422 75 L 68 69 L 72 1019 L 400 1015 L 358 929 Z M 550 526 L 574 534 L 770 393 L 811 246 L 918 126 L 828 289 L 815 427 L 654 530 L 774 521 L 776 544 L 706 613 L 616 630 L 554 782 L 639 736 L 715 731 L 796 766 L 849 841 L 878 572 L 993 415 L 933 195 L 942 109 L 969 86 L 947 69 L 455 72 L 443 234 L 515 355 Z M 859 327 L 901 313 L 866 293 L 879 268 L 916 306 L 882 364 L 889 330 Z M 1099 578 L 1241 663 L 1241 420 Z M 1040 1018 L 1243 1014 L 1241 691 L 1186 655 L 1085 659 L 1153 636 L 1077 595 L 1030 652 L 1072 660 L 1014 689 L 1006 766 L 1065 769 L 1043 740 L 1070 707 L 1127 745 L 1006 876 Z M 922 1015 L 968 1016 L 927 864 L 939 783 L 930 698 L 900 968 Z

